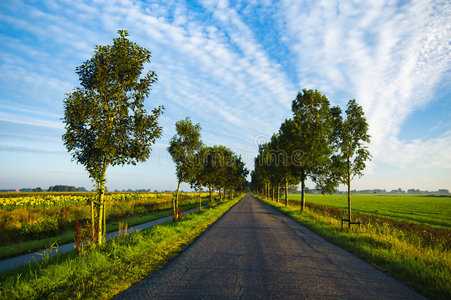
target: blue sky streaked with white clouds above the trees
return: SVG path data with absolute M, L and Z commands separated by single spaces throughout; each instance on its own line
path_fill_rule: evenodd
M 110 168 L 110 190 L 174 189 L 166 147 L 186 116 L 252 169 L 303 88 L 363 106 L 373 160 L 354 188 L 451 190 L 451 4 L 332 0 L 3 0 L 0 188 L 92 186 L 62 143 L 63 99 L 118 29 L 152 52 L 146 107 L 166 110 L 150 160 Z

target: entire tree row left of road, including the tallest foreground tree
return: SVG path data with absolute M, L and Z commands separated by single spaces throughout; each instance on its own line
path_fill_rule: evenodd
M 91 230 L 93 236 L 98 237 L 99 245 L 106 234 L 107 168 L 146 161 L 155 140 L 162 135 L 158 120 L 164 107 L 158 106 L 150 113 L 144 107 L 151 85 L 157 81 L 153 71 L 141 76 L 151 53 L 131 42 L 126 30 L 118 30 L 118 34 L 113 45 L 96 46 L 92 58 L 76 68 L 80 87 L 66 94 L 64 100 L 64 145 L 73 160 L 86 168 L 98 194 L 91 202 Z M 191 161 L 193 155 L 200 153 L 205 159 L 204 164 L 186 168 L 184 162 L 176 159 L 179 187 L 181 182 L 189 182 L 193 186 L 220 188 L 223 193 L 227 189 L 236 190 L 247 172 L 241 160 L 223 146 L 204 147 L 200 141 L 200 126 L 190 124 L 189 120 L 177 126 L 180 140 L 175 138 L 173 146 L 171 141 L 170 152 L 180 157 L 181 162 L 185 158 Z M 232 167 L 216 163 L 229 160 L 234 162 Z M 240 175 L 220 175 L 233 172 Z M 178 192 L 175 201 L 177 208 Z

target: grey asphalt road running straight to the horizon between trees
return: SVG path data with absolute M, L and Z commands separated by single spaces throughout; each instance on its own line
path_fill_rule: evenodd
M 163 269 L 117 299 L 422 299 L 245 196 Z

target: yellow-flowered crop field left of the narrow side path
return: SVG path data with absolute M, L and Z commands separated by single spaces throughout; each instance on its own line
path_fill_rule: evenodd
M 198 195 L 184 194 L 181 197 L 181 203 L 184 205 L 196 203 Z M 45 202 L 49 196 L 54 195 L 39 195 L 39 200 Z M 112 198 L 113 196 L 116 198 Z M 149 197 L 146 198 L 147 196 Z M 83 197 L 79 196 L 78 198 Z M 156 197 L 154 194 L 114 194 L 109 195 L 109 198 L 110 201 L 105 203 L 108 223 L 124 217 L 148 215 L 172 208 L 172 197 Z M 34 202 L 28 201 L 15 209 L 0 207 L 0 246 L 44 239 L 66 231 L 73 231 L 77 220 L 82 223 L 91 220 L 90 199 L 84 198 L 84 200 L 84 204 L 79 202 L 79 205 L 55 206 L 68 203 L 57 196 L 49 200 L 54 206 L 33 207 Z M 2 201 L 5 199 L 0 198 L 0 203 Z M 71 202 L 69 201 L 69 203 Z

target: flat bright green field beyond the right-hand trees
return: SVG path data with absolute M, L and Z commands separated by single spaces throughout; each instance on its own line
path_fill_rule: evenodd
M 289 194 L 289 200 L 300 201 L 300 194 Z M 281 200 L 283 201 L 283 200 Z M 405 194 L 353 194 L 352 212 L 374 214 L 397 221 L 451 228 L 451 197 Z M 306 194 L 306 202 L 347 209 L 346 194 Z

